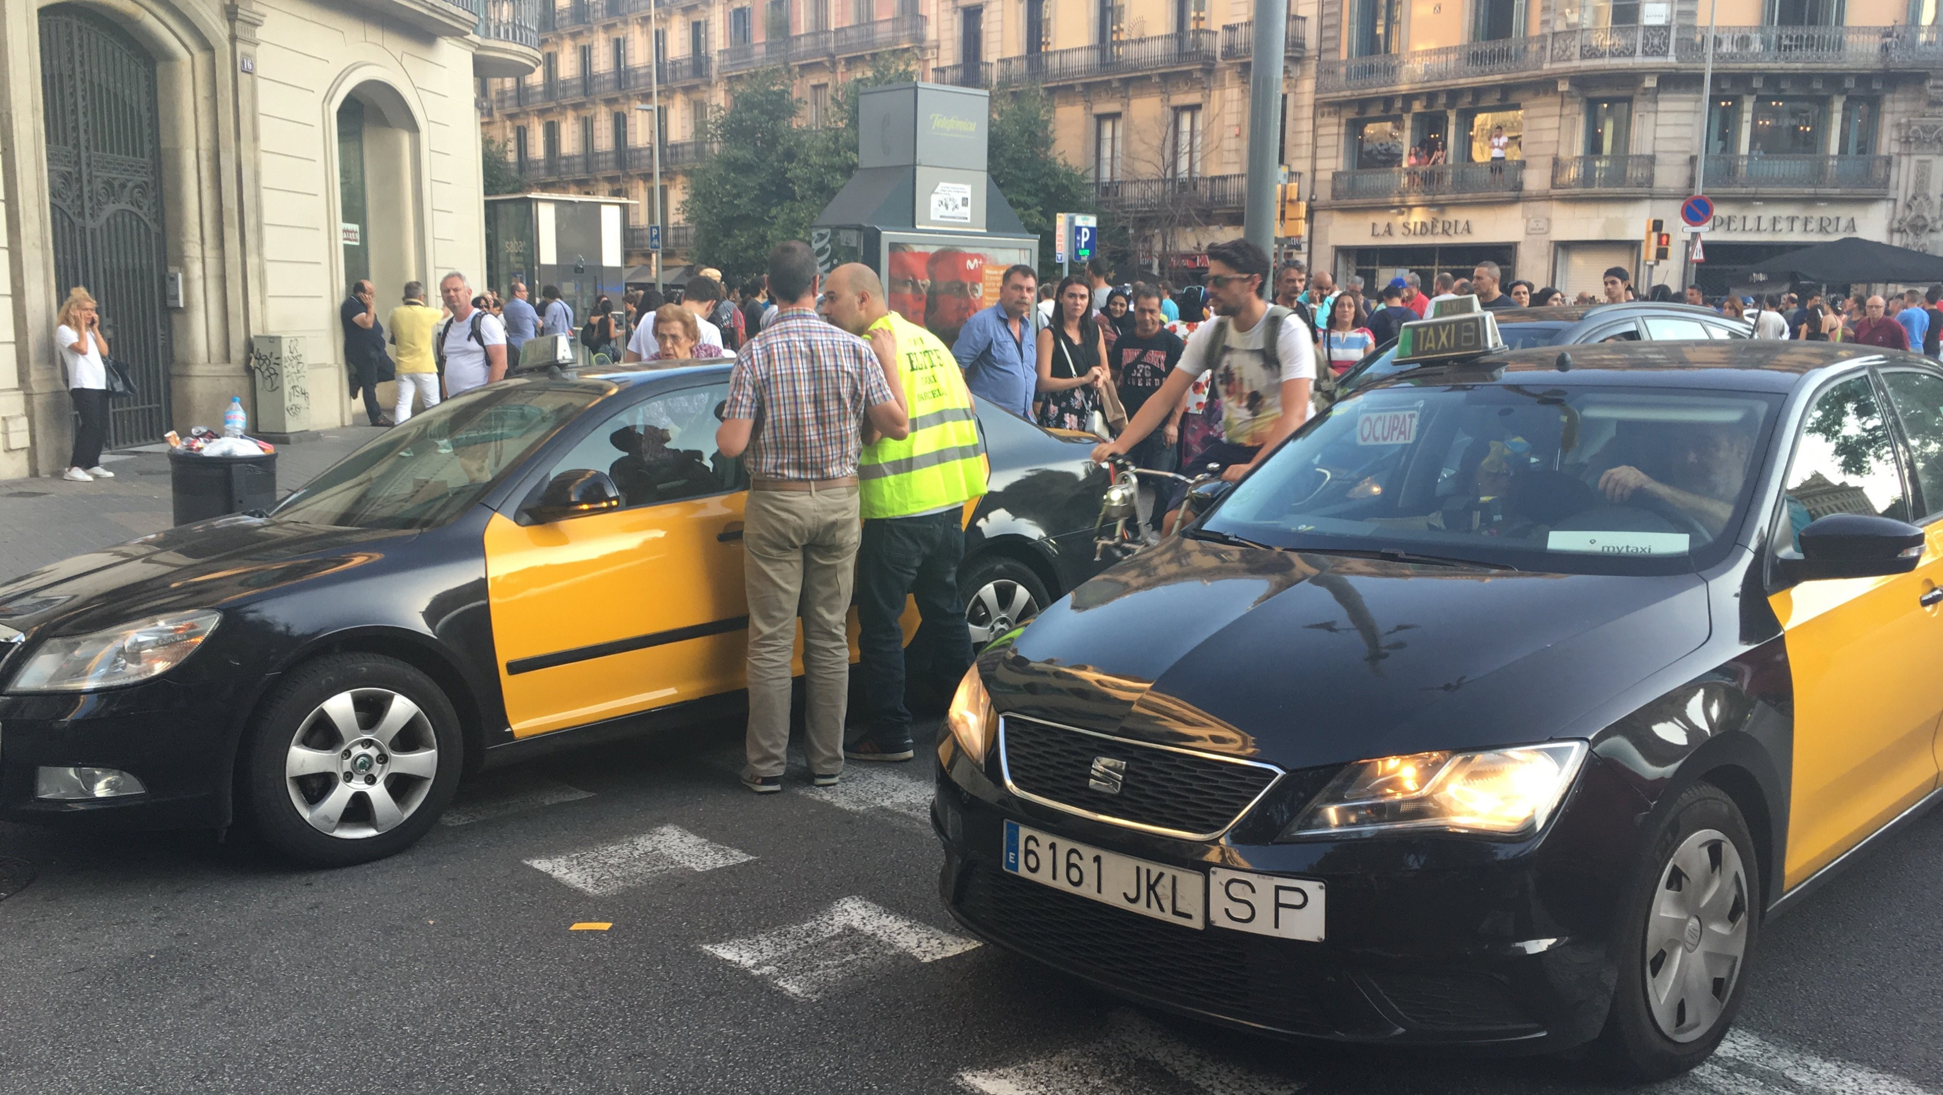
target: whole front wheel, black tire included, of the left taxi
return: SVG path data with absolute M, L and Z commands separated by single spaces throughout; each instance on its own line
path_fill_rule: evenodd
M 396 854 L 459 786 L 451 699 L 383 654 L 332 654 L 290 672 L 247 740 L 243 800 L 278 852 L 338 868 Z

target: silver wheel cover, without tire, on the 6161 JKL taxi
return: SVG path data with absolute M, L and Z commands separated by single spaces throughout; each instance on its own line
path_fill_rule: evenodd
M 1702 1039 L 1720 1021 L 1747 957 L 1747 868 L 1718 829 L 1687 837 L 1646 918 L 1646 1004 L 1659 1033 Z

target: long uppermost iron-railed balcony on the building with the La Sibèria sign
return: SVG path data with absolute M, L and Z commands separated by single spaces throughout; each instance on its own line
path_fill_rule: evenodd
M 1714 66 L 1725 70 L 1834 68 L 1931 72 L 1943 68 L 1939 27 L 1716 27 Z M 1574 27 L 1547 35 L 1465 43 L 1401 54 L 1325 58 L 1321 95 L 1461 85 L 1545 68 L 1700 68 L 1708 31 L 1683 25 Z

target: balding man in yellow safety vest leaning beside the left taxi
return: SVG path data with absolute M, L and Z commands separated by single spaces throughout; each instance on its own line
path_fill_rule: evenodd
M 911 433 L 878 439 L 869 427 L 857 478 L 863 546 L 857 549 L 857 648 L 863 654 L 863 734 L 843 746 L 853 761 L 911 759 L 911 713 L 903 705 L 903 600 L 937 656 L 935 672 L 958 680 L 972 664 L 972 633 L 958 598 L 964 507 L 985 493 L 985 443 L 958 359 L 935 334 L 892 313 L 884 283 L 859 262 L 824 282 L 824 318 L 863 336 L 886 371 L 903 377 Z

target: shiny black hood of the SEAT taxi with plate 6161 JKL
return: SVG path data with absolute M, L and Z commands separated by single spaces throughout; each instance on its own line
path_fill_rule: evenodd
M 1547 740 L 1706 637 L 1698 575 L 1177 538 L 1086 582 L 985 664 L 1006 714 L 1312 767 Z

